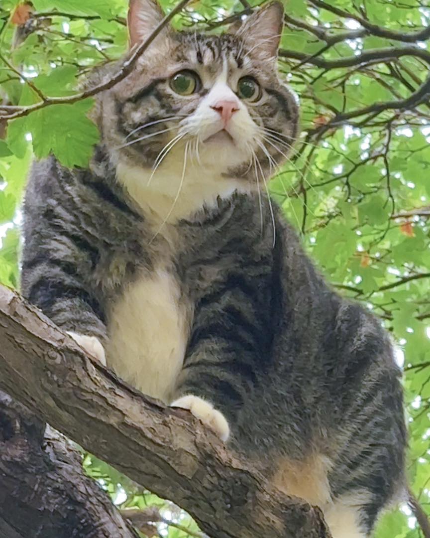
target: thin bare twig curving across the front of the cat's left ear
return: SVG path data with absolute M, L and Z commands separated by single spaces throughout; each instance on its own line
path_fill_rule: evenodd
M 155 27 L 155 29 L 152 31 L 149 37 L 143 43 L 141 43 L 137 48 L 135 48 L 134 51 L 133 50 L 131 51 L 131 55 L 129 56 L 129 58 L 124 61 L 119 71 L 115 75 L 113 75 L 111 79 L 107 80 L 106 82 L 103 82 L 102 84 L 98 84 L 97 86 L 94 86 L 93 88 L 89 88 L 87 90 L 81 91 L 80 93 L 77 93 L 75 95 L 69 95 L 67 97 L 41 96 L 42 98 L 41 102 L 35 103 L 28 107 L 19 107 L 18 110 L 15 107 L 15 111 L 12 111 L 11 114 L 9 115 L 0 114 L 0 120 L 1 119 L 15 119 L 15 118 L 27 116 L 28 114 L 30 114 L 30 112 L 34 112 L 35 110 L 40 110 L 52 104 L 73 104 L 73 103 L 76 103 L 77 101 L 86 99 L 87 97 L 92 97 L 100 93 L 101 91 L 112 88 L 113 86 L 115 86 L 115 84 L 125 79 L 125 77 L 131 73 L 137 60 L 146 51 L 146 49 L 154 41 L 154 39 L 158 36 L 158 34 L 162 31 L 164 26 L 166 26 L 169 23 L 169 21 L 176 15 L 176 13 L 179 13 L 189 2 L 190 0 L 181 0 L 181 2 L 179 2 L 173 8 L 173 10 L 171 10 L 170 13 L 166 15 L 166 17 L 163 18 L 160 24 Z M 10 109 L 6 108 L 4 105 L 0 105 L 0 110 L 10 111 Z

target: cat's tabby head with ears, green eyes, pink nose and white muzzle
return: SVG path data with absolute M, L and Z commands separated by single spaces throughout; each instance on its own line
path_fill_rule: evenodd
M 152 0 L 132 0 L 131 44 L 161 18 Z M 102 131 L 117 158 L 149 169 L 188 161 L 253 185 L 273 173 L 298 123 L 296 98 L 277 77 L 282 18 L 274 3 L 234 33 L 161 32 L 108 95 Z

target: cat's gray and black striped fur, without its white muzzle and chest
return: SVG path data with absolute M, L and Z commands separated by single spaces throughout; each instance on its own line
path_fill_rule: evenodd
M 251 31 L 242 27 L 220 37 L 170 31 L 162 61 L 154 60 L 159 45 L 123 82 L 98 96 L 94 118 L 102 142 L 88 169 L 67 170 L 54 158 L 33 165 L 21 287 L 60 327 L 96 336 L 109 350 L 112 324 L 121 325 L 112 320 L 115 306 L 162 267 L 177 290 L 175 309 L 182 312 L 186 339 L 174 385 L 154 395 L 167 403 L 184 394 L 212 402 L 230 424 L 231 447 L 278 487 L 300 494 L 308 480 L 310 502 L 319 489 L 328 495 L 320 504 L 334 538 L 368 536 L 404 485 L 400 372 L 381 322 L 326 284 L 277 207 L 273 245 L 268 199 L 264 189 L 257 193 L 249 161 L 223 170 L 223 177 L 237 181 L 238 192 L 202 202 L 161 230 L 117 179 L 120 161 L 150 169 L 173 135 L 118 149 L 125 137 L 148 121 L 192 115 L 205 94 L 185 101 L 172 95 L 169 62 L 188 66 L 191 59 L 210 78 L 223 58 L 233 71 L 247 59 L 267 90 L 264 104 L 250 114 L 292 143 L 296 100 L 278 81 L 274 62 L 249 49 Z M 104 67 L 91 80 L 114 69 Z M 144 132 L 160 125 L 173 124 Z M 276 148 L 269 151 L 283 161 Z M 267 155 L 256 152 L 267 177 Z M 178 175 L 181 170 L 178 161 Z M 136 360 L 145 372 L 146 359 Z M 121 356 L 108 352 L 107 362 L 151 392 L 150 380 L 121 369 Z

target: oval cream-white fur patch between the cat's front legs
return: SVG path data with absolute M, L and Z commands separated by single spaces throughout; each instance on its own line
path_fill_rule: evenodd
M 143 393 L 170 404 L 188 338 L 187 308 L 164 270 L 131 284 L 109 313 L 107 364 Z

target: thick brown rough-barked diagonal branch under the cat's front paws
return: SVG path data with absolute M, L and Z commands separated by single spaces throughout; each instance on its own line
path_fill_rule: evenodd
M 0 387 L 213 538 L 329 537 L 318 508 L 282 495 L 189 412 L 126 385 L 4 287 Z

